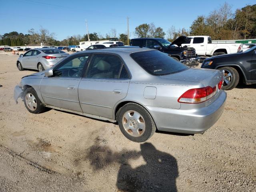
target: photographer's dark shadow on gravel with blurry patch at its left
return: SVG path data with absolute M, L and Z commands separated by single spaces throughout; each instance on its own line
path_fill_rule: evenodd
M 151 143 L 140 144 L 140 152 L 122 150 L 113 152 L 108 146 L 95 143 L 88 150 L 86 159 L 94 171 L 106 168 L 112 163 L 120 164 L 116 186 L 124 192 L 176 192 L 176 178 L 178 166 L 176 159 L 165 152 L 157 150 Z M 144 162 L 132 168 L 129 160 L 138 160 L 143 157 Z

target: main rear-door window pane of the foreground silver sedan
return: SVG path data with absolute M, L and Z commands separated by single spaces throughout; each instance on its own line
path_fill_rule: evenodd
M 88 78 L 111 78 L 118 79 L 122 61 L 114 55 L 96 54 L 90 62 Z

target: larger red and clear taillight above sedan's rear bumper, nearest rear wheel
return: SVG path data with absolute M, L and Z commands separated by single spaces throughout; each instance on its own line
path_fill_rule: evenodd
M 180 103 L 202 103 L 216 94 L 216 86 L 203 87 L 187 90 L 180 98 Z

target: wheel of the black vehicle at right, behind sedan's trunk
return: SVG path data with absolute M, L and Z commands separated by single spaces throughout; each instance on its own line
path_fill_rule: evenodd
M 233 67 L 222 67 L 218 68 L 218 70 L 224 70 L 224 81 L 222 85 L 223 90 L 231 90 L 235 88 L 238 85 L 239 82 L 239 73 L 238 71 Z M 230 76 L 230 74 L 231 76 Z M 228 77 L 230 76 L 230 77 Z M 226 77 L 226 80 L 225 80 Z M 228 77 L 228 78 L 227 78 Z

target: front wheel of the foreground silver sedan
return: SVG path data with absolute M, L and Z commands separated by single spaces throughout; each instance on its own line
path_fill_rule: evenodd
M 32 96 L 34 96 L 34 98 Z M 30 100 L 30 97 L 32 98 Z M 42 104 L 42 102 L 40 101 L 40 99 L 38 98 L 36 91 L 30 87 L 27 88 L 24 93 L 23 93 L 23 100 L 24 100 L 24 104 L 27 108 L 27 110 L 30 113 L 34 113 L 34 114 L 38 114 L 38 113 L 42 113 L 46 110 L 46 107 Z M 35 107 L 32 106 L 32 102 L 30 103 L 30 101 L 32 101 L 35 105 Z M 32 109 L 34 108 L 34 110 Z

